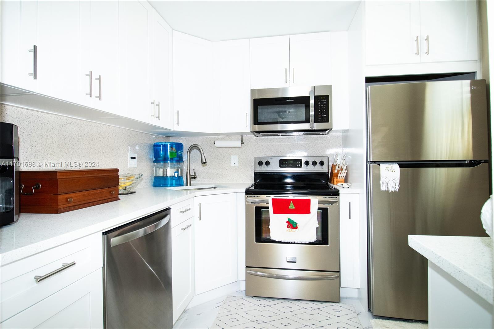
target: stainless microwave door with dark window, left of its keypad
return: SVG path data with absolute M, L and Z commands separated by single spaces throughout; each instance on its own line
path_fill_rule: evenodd
M 251 90 L 251 130 L 314 129 L 314 87 Z

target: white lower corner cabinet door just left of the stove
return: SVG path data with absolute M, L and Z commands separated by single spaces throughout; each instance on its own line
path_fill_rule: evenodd
M 194 198 L 196 295 L 237 281 L 237 194 Z

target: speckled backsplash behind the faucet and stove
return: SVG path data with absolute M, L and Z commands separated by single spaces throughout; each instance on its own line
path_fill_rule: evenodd
M 207 164 L 201 165 L 200 153 L 191 153 L 191 168 L 196 168 L 198 183 L 232 182 L 248 183 L 253 181 L 254 157 L 266 156 L 328 156 L 332 161 L 335 153 L 341 153 L 342 132 L 331 131 L 326 136 L 287 136 L 254 137 L 244 136 L 245 144 L 241 148 L 216 148 L 215 140 L 239 140 L 232 137 L 185 137 L 170 141 L 184 144 L 184 153 L 191 144 L 199 144 L 206 156 Z M 231 156 L 239 156 L 239 166 L 231 166 Z M 185 158 L 185 155 L 184 155 Z

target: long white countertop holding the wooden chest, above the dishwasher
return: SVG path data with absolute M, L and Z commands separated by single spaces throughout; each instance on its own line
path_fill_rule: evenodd
M 227 187 L 196 191 L 144 187 L 136 189 L 134 194 L 121 195 L 119 201 L 103 205 L 60 214 L 21 213 L 16 223 L 0 228 L 0 264 L 106 231 L 195 196 L 242 193 L 251 183 L 215 184 Z

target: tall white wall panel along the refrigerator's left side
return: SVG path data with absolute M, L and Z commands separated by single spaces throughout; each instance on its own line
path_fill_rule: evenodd
M 348 158 L 348 182 L 360 188 L 360 289 L 358 298 L 368 309 L 367 285 L 367 191 L 366 191 L 366 136 L 365 136 L 365 2 L 360 3 L 348 29 L 349 66 L 349 129 L 343 132 L 343 152 Z

